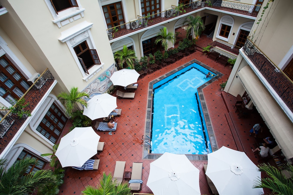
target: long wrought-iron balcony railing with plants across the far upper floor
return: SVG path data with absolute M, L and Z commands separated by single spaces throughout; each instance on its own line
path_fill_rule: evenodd
M 259 7 L 259 8 L 258 8 Z M 122 37 L 127 34 L 136 33 L 137 31 L 142 31 L 146 27 L 154 26 L 162 22 L 171 21 L 183 17 L 182 15 L 193 13 L 196 10 L 208 9 L 218 9 L 222 11 L 237 13 L 241 15 L 247 15 L 251 17 L 256 17 L 258 11 L 254 11 L 255 8 L 260 10 L 261 6 L 252 4 L 243 4 L 232 1 L 225 0 L 211 0 L 210 3 L 205 3 L 205 1 L 195 1 L 184 5 L 184 11 L 182 13 L 176 12 L 176 6 L 172 6 L 163 12 L 159 12 L 146 17 L 137 16 L 136 20 L 131 22 L 115 26 L 106 30 L 109 40 Z

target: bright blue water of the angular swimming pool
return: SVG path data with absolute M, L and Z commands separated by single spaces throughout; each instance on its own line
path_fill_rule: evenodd
M 208 72 L 193 63 L 153 85 L 151 153 L 210 153 L 197 94 L 197 87 L 211 79 L 206 78 Z

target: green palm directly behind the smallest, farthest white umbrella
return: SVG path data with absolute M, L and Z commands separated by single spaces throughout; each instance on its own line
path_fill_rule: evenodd
M 118 62 L 120 68 L 134 69 L 134 61 L 137 59 L 135 52 L 132 49 L 128 49 L 126 45 L 123 49 L 114 53 L 114 59 Z

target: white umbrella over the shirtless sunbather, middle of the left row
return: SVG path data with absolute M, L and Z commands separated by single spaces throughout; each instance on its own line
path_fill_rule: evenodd
M 88 116 L 91 120 L 107 117 L 115 108 L 117 98 L 110 94 L 100 94 L 93 96 L 88 100 L 88 107 L 84 107 L 83 115 Z

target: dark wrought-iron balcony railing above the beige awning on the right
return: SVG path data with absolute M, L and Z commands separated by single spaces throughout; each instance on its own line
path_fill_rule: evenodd
M 272 88 L 282 98 L 286 105 L 293 111 L 293 82 L 268 56 L 247 38 L 243 51 L 253 62 L 255 67 L 269 82 Z

